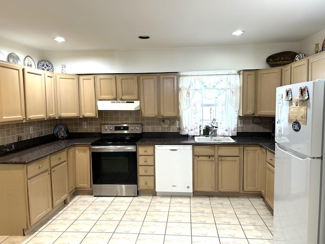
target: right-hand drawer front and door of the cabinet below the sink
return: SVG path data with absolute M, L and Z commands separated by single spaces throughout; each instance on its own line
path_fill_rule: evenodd
M 219 192 L 240 191 L 240 148 L 218 146 L 218 190 Z

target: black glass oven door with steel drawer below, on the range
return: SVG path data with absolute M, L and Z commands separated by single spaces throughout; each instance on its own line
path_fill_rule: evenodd
M 137 151 L 130 146 L 92 146 L 94 196 L 137 196 Z

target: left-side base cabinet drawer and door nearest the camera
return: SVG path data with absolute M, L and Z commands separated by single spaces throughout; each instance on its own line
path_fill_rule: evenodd
M 33 226 L 52 210 L 49 158 L 28 165 L 27 178 L 29 221 Z

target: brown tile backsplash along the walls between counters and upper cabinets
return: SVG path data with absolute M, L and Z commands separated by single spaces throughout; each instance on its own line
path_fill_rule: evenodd
M 255 117 L 238 117 L 238 132 L 270 132 L 274 117 L 260 117 L 261 123 L 254 124 Z M 179 132 L 176 127 L 178 118 L 141 118 L 140 111 L 99 111 L 98 118 L 61 118 L 26 123 L 0 125 L 0 145 L 18 140 L 27 140 L 34 137 L 50 135 L 57 125 L 65 125 L 69 132 L 101 132 L 102 124 L 142 124 L 143 132 Z M 169 125 L 164 127 L 163 122 Z M 86 127 L 83 127 L 84 122 Z M 32 133 L 30 133 L 32 127 Z

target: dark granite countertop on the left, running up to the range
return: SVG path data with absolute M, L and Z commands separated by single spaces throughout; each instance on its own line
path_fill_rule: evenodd
M 90 143 L 95 140 L 98 140 L 98 138 L 53 141 L 25 150 L 13 151 L 11 154 L 0 157 L 0 164 L 29 164 L 74 145 L 90 145 Z

